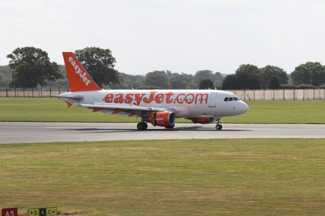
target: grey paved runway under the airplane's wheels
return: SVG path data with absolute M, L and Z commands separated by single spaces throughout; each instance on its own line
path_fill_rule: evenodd
M 136 123 L 0 122 L 0 143 L 130 139 L 323 138 L 325 125 L 176 124 L 139 131 Z

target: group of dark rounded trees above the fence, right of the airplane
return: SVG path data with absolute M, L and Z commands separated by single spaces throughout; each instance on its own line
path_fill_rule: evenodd
M 291 73 L 293 85 L 288 85 L 288 75 L 280 67 L 267 65 L 258 68 L 251 64 L 242 64 L 233 75 L 225 77 L 223 89 L 295 89 L 324 88 L 325 66 L 319 62 L 300 64 Z

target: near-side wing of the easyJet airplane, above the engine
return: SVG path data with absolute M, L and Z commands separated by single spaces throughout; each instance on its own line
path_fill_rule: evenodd
M 74 103 L 73 105 L 79 105 L 82 107 L 87 107 L 93 109 L 93 112 L 107 110 L 113 111 L 112 114 L 117 114 L 119 112 L 132 113 L 133 111 L 147 111 L 147 112 L 165 112 L 169 111 L 176 113 L 176 110 L 173 108 L 167 107 L 148 107 L 148 106 L 136 106 L 136 105 L 122 105 L 122 104 L 83 104 L 83 103 Z

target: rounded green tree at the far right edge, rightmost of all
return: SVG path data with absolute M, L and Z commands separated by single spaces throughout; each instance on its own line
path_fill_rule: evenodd
M 295 85 L 311 84 L 319 86 L 325 84 L 325 67 L 319 62 L 306 62 L 295 68 L 291 73 Z

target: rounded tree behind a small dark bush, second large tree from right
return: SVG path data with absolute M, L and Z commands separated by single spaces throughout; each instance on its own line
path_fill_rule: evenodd
M 267 65 L 261 68 L 261 85 L 262 88 L 266 89 L 270 82 L 271 77 L 277 77 L 280 84 L 287 84 L 288 83 L 288 76 L 284 69 L 273 66 Z

